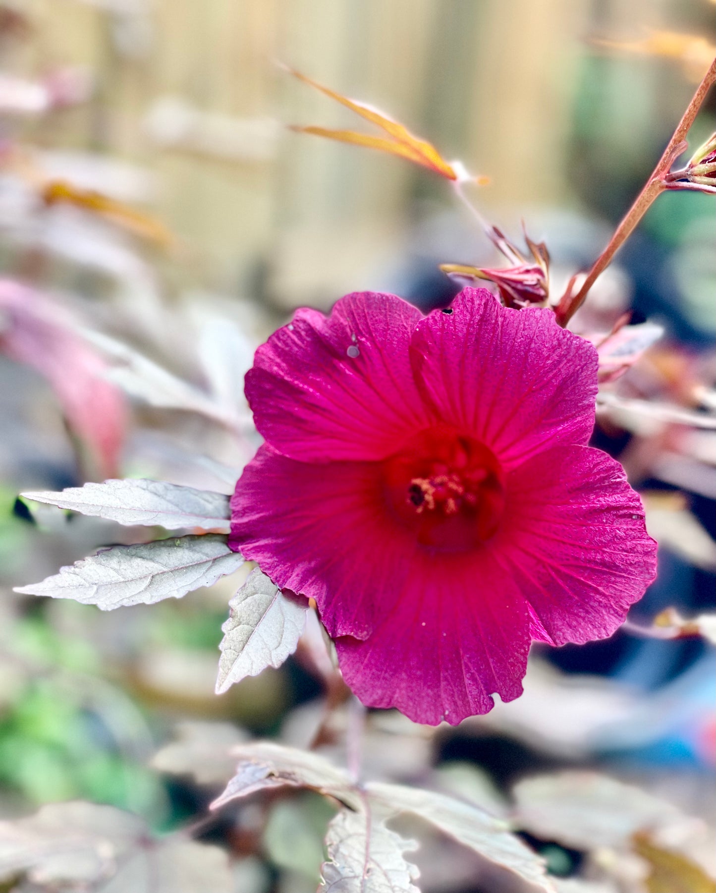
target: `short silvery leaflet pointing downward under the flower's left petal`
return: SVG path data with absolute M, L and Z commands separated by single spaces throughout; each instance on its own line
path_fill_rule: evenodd
M 292 655 L 304 631 L 306 608 L 282 595 L 258 568 L 252 571 L 229 602 L 229 620 L 221 627 L 217 695 Z

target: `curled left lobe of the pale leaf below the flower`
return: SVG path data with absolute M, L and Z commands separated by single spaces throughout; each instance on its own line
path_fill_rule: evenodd
M 237 760 L 237 773 L 213 801 L 212 809 L 239 797 L 248 797 L 257 790 L 282 787 L 311 788 L 352 808 L 361 805 L 347 772 L 310 751 L 271 741 L 254 741 L 235 747 L 231 754 Z

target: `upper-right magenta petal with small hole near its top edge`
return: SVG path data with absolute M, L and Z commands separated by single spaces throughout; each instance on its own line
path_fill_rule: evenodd
M 465 288 L 419 322 L 411 359 L 441 420 L 482 440 L 505 470 L 557 443 L 586 444 L 594 427 L 595 348 L 551 310 L 509 310 Z

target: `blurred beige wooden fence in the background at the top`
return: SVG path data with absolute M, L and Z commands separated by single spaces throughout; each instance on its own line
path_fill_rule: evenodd
M 384 107 L 446 157 L 487 173 L 487 204 L 563 200 L 592 0 L 27 5 L 37 36 L 13 64 L 96 73 L 91 103 L 64 113 L 46 138 L 152 169 L 156 212 L 193 246 L 189 278 L 214 288 L 246 289 L 266 271 L 286 305 L 360 288 L 400 245 L 412 197 L 446 195 L 406 163 L 273 124 L 346 121 L 283 75 L 277 58 Z M 620 8 L 638 16 L 648 5 Z M 183 143 L 172 131 L 181 126 L 194 128 Z

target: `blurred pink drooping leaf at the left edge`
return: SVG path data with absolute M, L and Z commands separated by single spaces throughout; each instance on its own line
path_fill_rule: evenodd
M 0 352 L 48 381 L 100 476 L 112 477 L 125 437 L 126 405 L 121 391 L 104 379 L 104 359 L 73 330 L 75 324 L 50 296 L 0 280 Z

